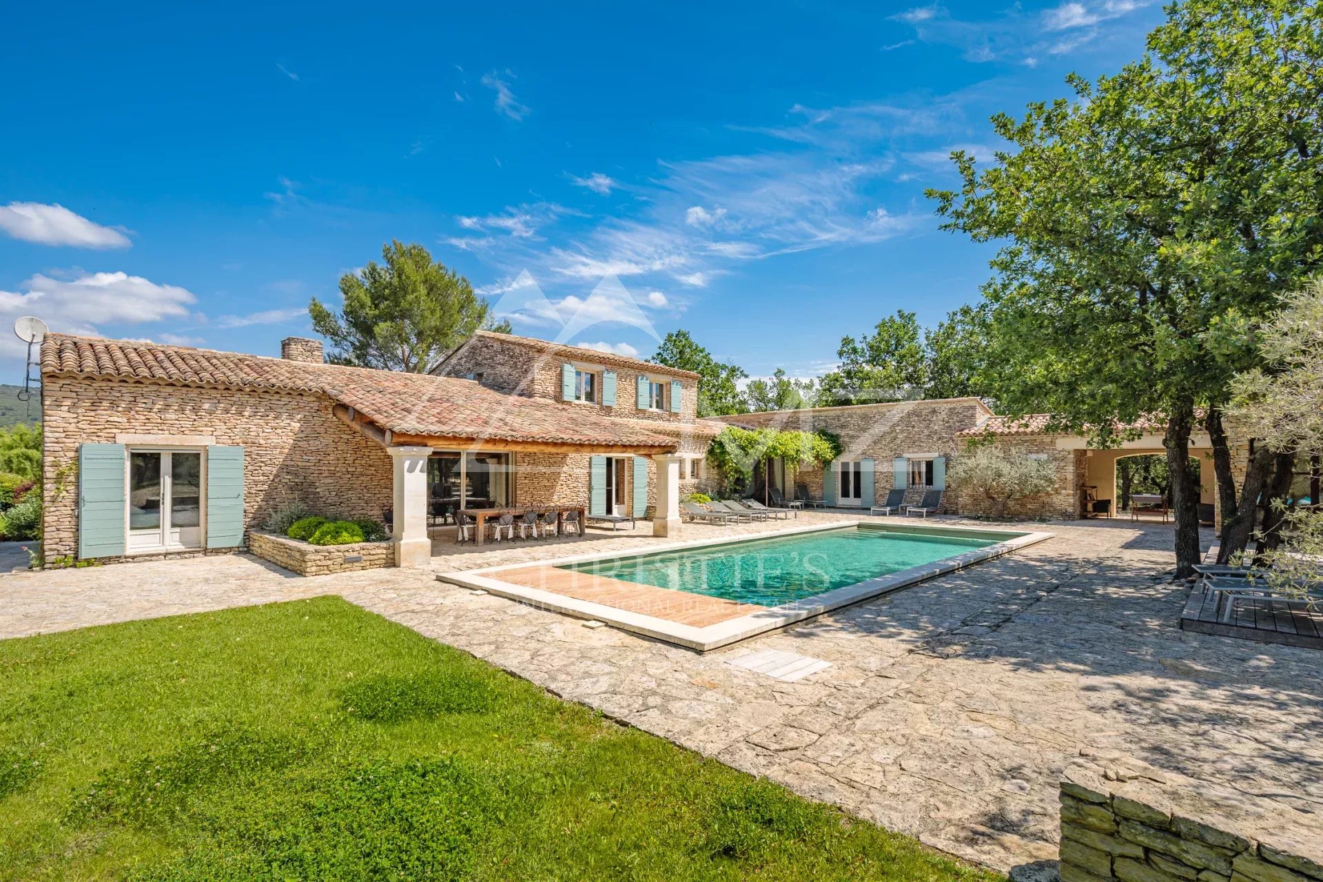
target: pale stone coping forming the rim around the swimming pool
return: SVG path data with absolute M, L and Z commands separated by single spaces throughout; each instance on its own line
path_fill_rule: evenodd
M 503 566 L 471 570 L 467 573 L 443 573 L 438 574 L 437 579 L 466 588 L 484 590 L 490 594 L 509 598 L 538 610 L 560 612 L 562 615 L 576 616 L 579 619 L 595 619 L 620 628 L 622 631 L 630 631 L 632 633 L 654 637 L 665 643 L 673 643 L 697 652 L 708 652 L 732 643 L 738 643 L 740 640 L 746 640 L 767 631 L 785 628 L 789 624 L 803 621 L 804 619 L 811 619 L 824 612 L 839 610 L 840 607 L 868 600 L 882 594 L 889 594 L 939 575 L 946 575 L 947 573 L 954 573 L 967 566 L 982 563 L 983 561 L 999 558 L 1004 554 L 1009 554 L 1011 551 L 1017 551 L 1023 547 L 1028 547 L 1029 545 L 1049 540 L 1053 536 L 1052 533 L 1041 532 L 1020 533 L 970 526 L 929 526 L 926 524 L 910 525 L 878 524 L 876 521 L 839 521 L 835 524 L 790 528 L 774 533 L 759 533 L 749 537 L 717 537 L 699 542 L 675 542 L 648 549 L 639 549 L 624 554 L 619 551 L 578 554 L 552 561 L 540 561 L 538 563 L 542 566 L 564 566 L 566 563 L 589 563 L 591 561 L 605 561 L 610 558 L 651 557 L 655 554 L 665 554 L 668 551 L 685 551 L 691 549 L 710 547 L 714 545 L 741 545 L 746 542 L 804 536 L 808 533 L 822 533 L 826 530 L 840 530 L 849 526 L 882 533 L 925 533 L 929 536 L 962 536 L 966 538 L 1005 538 L 994 545 L 964 551 L 963 554 L 934 561 L 933 563 L 923 563 L 898 573 L 881 575 L 875 579 L 867 579 L 864 582 L 856 582 L 855 584 L 832 588 L 831 591 L 824 591 L 823 594 L 815 594 L 810 598 L 802 598 L 791 603 L 783 603 L 779 607 L 770 607 L 703 628 L 680 624 L 677 621 L 671 621 L 669 619 L 644 615 L 642 612 L 618 610 L 615 607 L 594 603 L 591 600 L 578 600 L 562 594 L 556 594 L 554 591 L 513 584 L 500 579 L 500 573 L 503 570 L 524 569 L 528 566 L 527 562 L 507 563 Z

